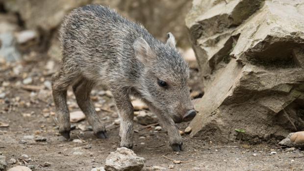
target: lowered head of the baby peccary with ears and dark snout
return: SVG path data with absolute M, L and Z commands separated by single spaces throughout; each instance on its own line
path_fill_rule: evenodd
M 177 123 L 187 122 L 196 115 L 188 88 L 189 68 L 176 49 L 174 36 L 167 35 L 165 44 L 152 41 L 149 45 L 143 38 L 135 40 L 135 56 L 144 68 L 139 91 L 164 117 Z

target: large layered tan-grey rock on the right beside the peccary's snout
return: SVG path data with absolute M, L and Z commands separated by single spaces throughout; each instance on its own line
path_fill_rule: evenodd
M 205 94 L 191 135 L 281 138 L 304 129 L 304 2 L 194 0 L 186 17 Z M 214 134 L 217 132 L 216 134 Z

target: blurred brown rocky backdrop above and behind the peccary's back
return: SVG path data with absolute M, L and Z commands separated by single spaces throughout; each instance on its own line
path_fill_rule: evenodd
M 116 9 L 127 19 L 143 24 L 162 41 L 167 32 L 172 32 L 178 47 L 190 47 L 184 19 L 191 0 L 0 0 L 0 33 L 12 36 L 18 46 L 11 52 L 14 54 L 6 54 L 5 58 L 19 59 L 35 51 L 44 58 L 47 55 L 60 60 L 57 31 L 62 19 L 72 9 L 91 3 Z

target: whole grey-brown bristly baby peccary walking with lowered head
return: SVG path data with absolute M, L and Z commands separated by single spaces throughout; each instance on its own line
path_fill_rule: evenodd
M 60 29 L 62 66 L 52 77 L 52 94 L 59 118 L 59 132 L 70 138 L 67 88 L 73 87 L 77 104 L 94 134 L 107 138 L 106 130 L 90 100 L 95 85 L 113 94 L 121 120 L 121 147 L 133 146 L 133 107 L 130 96 L 141 98 L 168 131 L 171 147 L 181 150 L 175 125 L 192 120 L 196 112 L 189 96 L 187 63 L 168 33 L 162 43 L 142 26 L 100 5 L 74 9 Z

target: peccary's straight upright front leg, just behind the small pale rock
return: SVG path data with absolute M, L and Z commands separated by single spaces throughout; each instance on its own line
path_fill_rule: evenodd
M 133 147 L 133 106 L 127 89 L 111 90 L 120 117 L 120 146 Z

